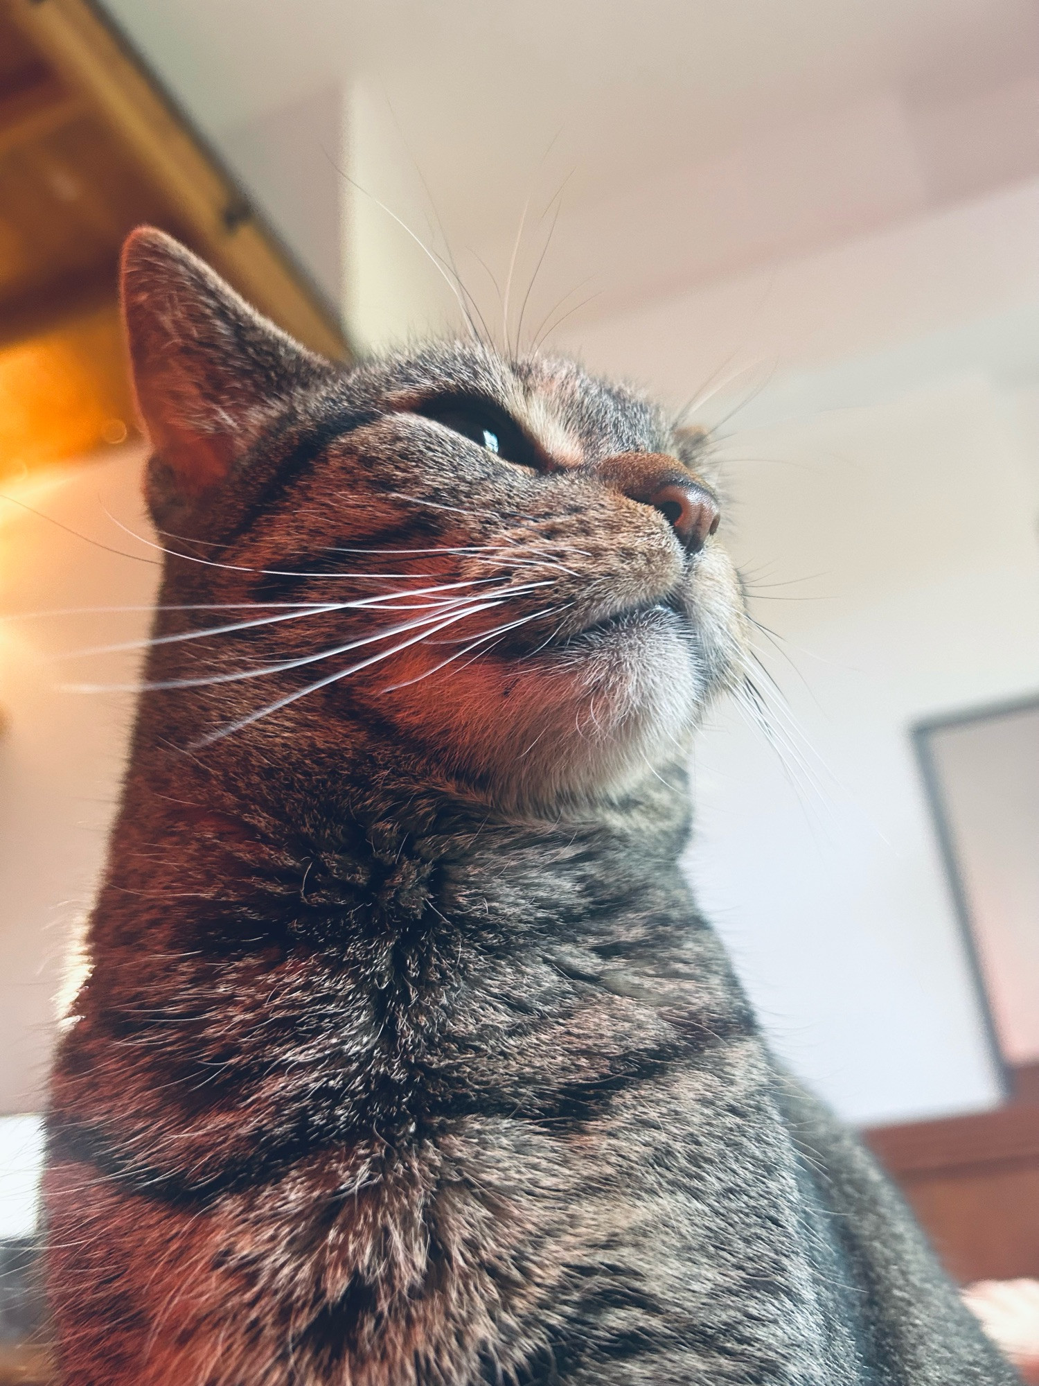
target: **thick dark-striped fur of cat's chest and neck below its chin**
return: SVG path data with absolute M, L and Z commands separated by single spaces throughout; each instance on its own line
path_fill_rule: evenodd
M 101 1254 L 158 1324 L 137 1379 L 594 1380 L 695 1342 L 740 1380 L 833 1350 L 774 1076 L 652 809 L 295 862 L 195 823 L 179 890 L 147 872 L 58 1074 L 51 1175 L 89 1189 L 65 1278 Z

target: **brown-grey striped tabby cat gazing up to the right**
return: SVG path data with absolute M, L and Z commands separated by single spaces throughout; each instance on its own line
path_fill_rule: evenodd
M 679 870 L 745 649 L 697 438 L 481 342 L 331 366 L 154 230 L 123 304 L 165 567 L 66 1386 L 1014 1382 Z

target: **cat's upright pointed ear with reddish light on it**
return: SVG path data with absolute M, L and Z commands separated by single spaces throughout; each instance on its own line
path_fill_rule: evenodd
M 154 449 L 148 500 L 157 516 L 190 511 L 287 401 L 332 367 L 152 226 L 123 245 L 121 295 L 137 407 Z

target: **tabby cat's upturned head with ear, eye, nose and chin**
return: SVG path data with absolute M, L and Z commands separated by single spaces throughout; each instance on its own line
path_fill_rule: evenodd
M 123 305 L 179 744 L 298 768 L 377 739 L 542 809 L 684 757 L 745 646 L 695 435 L 482 344 L 331 366 L 150 229 Z

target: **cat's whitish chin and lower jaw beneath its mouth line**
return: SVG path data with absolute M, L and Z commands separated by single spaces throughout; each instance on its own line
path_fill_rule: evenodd
M 506 808 L 557 812 L 632 793 L 686 760 L 704 710 L 738 678 L 736 572 L 708 550 L 664 599 L 587 614 L 582 631 L 528 653 L 489 653 L 453 664 L 446 682 L 399 685 L 395 722 Z

